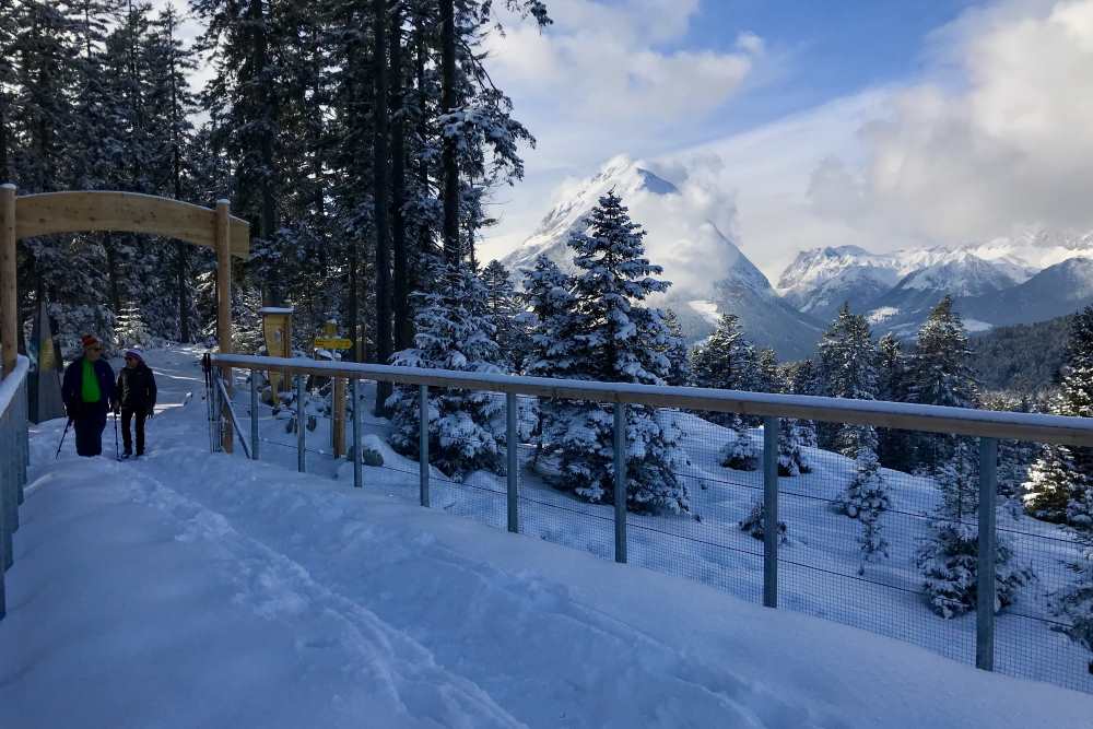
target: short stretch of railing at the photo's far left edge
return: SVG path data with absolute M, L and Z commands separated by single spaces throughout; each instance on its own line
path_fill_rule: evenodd
M 12 534 L 19 529 L 30 462 L 26 375 L 30 362 L 20 356 L 0 381 L 0 620 L 7 614 L 4 573 L 14 562 Z

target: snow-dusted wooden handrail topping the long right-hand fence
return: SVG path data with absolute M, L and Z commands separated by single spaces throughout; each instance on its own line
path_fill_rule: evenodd
M 1008 440 L 1093 447 L 1093 418 L 945 408 L 883 400 L 849 400 L 803 395 L 769 395 L 701 387 L 658 387 L 544 377 L 517 377 L 450 369 L 424 369 L 353 362 L 315 362 L 242 354 L 213 354 L 213 362 L 254 369 L 287 369 L 320 377 L 372 379 L 402 385 L 515 392 L 544 398 L 623 402 L 659 408 L 732 412 L 854 423 L 926 433 L 950 433 Z

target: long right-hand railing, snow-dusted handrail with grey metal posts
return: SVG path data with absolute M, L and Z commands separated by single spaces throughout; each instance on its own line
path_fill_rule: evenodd
M 540 377 L 518 377 L 491 375 L 445 369 L 423 369 L 395 367 L 376 364 L 349 362 L 317 362 L 304 358 L 281 358 L 234 354 L 211 355 L 210 366 L 213 378 L 223 376 L 232 368 L 249 369 L 251 410 L 258 409 L 258 372 L 277 371 L 296 380 L 297 422 L 303 419 L 303 379 L 305 375 L 344 378 L 350 380 L 353 400 L 356 402 L 360 380 L 388 381 L 418 386 L 420 408 L 427 405 L 430 387 L 456 388 L 500 392 L 506 395 L 506 431 L 508 443 L 516 443 L 518 408 L 516 396 L 532 396 L 556 399 L 574 399 L 611 403 L 614 410 L 614 556 L 615 561 L 627 561 L 627 513 L 625 482 L 624 428 L 627 404 L 670 408 L 691 411 L 713 411 L 759 416 L 763 422 L 762 449 L 762 522 L 763 522 L 763 604 L 778 605 L 778 545 L 779 545 L 779 490 L 778 490 L 778 439 L 780 419 L 850 423 L 901 431 L 919 431 L 979 438 L 978 463 L 978 544 L 976 568 L 976 639 L 975 662 L 985 670 L 995 666 L 995 612 L 997 609 L 997 584 L 995 578 L 995 555 L 998 550 L 996 528 L 998 440 L 1021 440 L 1055 443 L 1093 447 L 1093 419 L 1065 418 L 1033 413 L 997 412 L 963 408 L 920 405 L 901 402 L 848 400 L 812 396 L 769 395 L 741 392 L 693 387 L 656 387 L 623 383 L 600 383 L 568 379 L 546 379 Z M 218 395 L 220 388 L 212 388 Z M 220 442 L 230 444 L 233 438 L 227 427 L 233 427 L 239 439 L 245 434 L 235 419 L 231 425 L 225 422 L 227 408 L 213 404 L 210 411 L 214 427 L 221 433 Z M 351 452 L 360 454 L 362 428 L 360 408 L 352 409 Z M 430 504 L 430 468 L 427 419 L 421 421 L 420 434 L 420 491 L 421 504 Z M 297 427 L 298 468 L 304 470 L 306 452 L 305 431 Z M 251 447 L 254 457 L 259 454 L 257 420 L 251 419 Z M 218 442 L 214 438 L 214 442 Z M 520 529 L 519 475 L 516 466 L 516 449 L 508 448 L 507 468 L 507 522 L 508 530 Z M 354 485 L 362 486 L 361 459 L 354 458 Z M 785 496 L 785 494 L 783 495 Z

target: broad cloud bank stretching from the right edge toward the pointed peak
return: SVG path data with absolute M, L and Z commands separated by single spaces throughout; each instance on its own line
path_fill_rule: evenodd
M 738 47 L 750 62 L 762 52 L 744 36 Z M 925 81 L 660 157 L 656 169 L 734 210 L 737 242 L 772 279 L 815 246 L 1093 228 L 1093 0 L 978 9 L 924 52 Z

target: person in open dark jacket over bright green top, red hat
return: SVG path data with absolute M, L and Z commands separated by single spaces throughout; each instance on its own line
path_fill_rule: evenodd
M 92 334 L 81 340 L 83 356 L 77 357 L 64 371 L 61 398 L 64 410 L 75 427 L 75 451 L 81 456 L 103 452 L 103 430 L 106 413 L 117 396 L 114 369 L 103 360 L 103 343 Z

